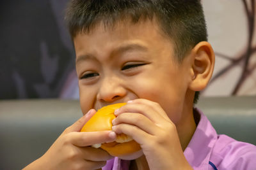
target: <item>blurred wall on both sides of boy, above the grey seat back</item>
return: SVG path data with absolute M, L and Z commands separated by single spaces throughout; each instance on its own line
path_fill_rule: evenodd
M 0 99 L 78 99 L 67 0 L 0 1 Z M 203 0 L 216 52 L 202 96 L 256 95 L 255 0 Z

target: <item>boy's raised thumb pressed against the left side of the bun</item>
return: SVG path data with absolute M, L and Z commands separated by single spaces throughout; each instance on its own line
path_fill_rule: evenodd
M 91 109 L 89 110 L 83 117 L 79 118 L 74 124 L 70 125 L 65 132 L 80 132 L 83 125 L 88 122 L 90 118 L 96 113 L 95 110 Z

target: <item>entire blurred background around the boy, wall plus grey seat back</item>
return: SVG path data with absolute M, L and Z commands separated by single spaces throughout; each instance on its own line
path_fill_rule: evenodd
M 0 169 L 28 165 L 81 117 L 60 100 L 79 98 L 67 1 L 0 1 Z M 219 134 L 256 145 L 255 0 L 202 4 L 216 64 L 199 108 Z

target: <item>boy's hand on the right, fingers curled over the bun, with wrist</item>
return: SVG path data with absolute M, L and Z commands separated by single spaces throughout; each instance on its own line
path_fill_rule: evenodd
M 140 144 L 150 169 L 192 169 L 186 160 L 175 124 L 158 103 L 135 99 L 115 111 L 113 131 Z

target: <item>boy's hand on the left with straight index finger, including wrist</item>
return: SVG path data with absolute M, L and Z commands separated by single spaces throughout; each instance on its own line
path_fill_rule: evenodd
M 91 145 L 115 141 L 115 132 L 80 132 L 95 112 L 95 110 L 88 111 L 86 115 L 65 129 L 40 159 L 24 169 L 99 169 L 103 167 L 106 160 L 113 157 L 100 148 L 92 148 Z

